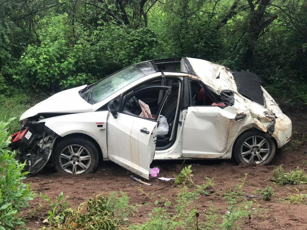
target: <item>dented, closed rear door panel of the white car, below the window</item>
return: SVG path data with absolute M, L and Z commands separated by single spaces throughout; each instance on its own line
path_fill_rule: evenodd
M 226 153 L 242 124 L 233 106 L 190 106 L 183 128 L 183 157 L 217 158 Z

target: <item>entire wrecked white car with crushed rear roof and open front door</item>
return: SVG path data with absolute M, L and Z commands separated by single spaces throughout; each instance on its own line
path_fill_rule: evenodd
M 47 162 L 60 172 L 93 173 L 103 158 L 146 179 L 153 159 L 267 165 L 292 132 L 255 74 L 195 58 L 131 65 L 54 94 L 20 121 L 12 145 L 30 174 Z

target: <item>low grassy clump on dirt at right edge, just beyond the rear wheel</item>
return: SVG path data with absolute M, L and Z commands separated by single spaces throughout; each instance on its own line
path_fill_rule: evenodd
M 282 165 L 279 165 L 271 177 L 272 181 L 278 185 L 284 184 L 307 184 L 307 174 L 303 169 L 297 167 L 295 170 L 285 172 Z

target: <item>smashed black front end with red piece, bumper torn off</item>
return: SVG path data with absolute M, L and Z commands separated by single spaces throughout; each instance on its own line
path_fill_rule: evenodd
M 19 149 L 18 160 L 26 162 L 24 167 L 31 176 L 43 169 L 50 159 L 52 147 L 57 135 L 45 124 L 37 121 L 23 125 L 21 130 L 11 137 L 12 149 Z

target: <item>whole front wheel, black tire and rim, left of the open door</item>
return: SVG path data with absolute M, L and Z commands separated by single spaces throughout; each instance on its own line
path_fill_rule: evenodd
M 56 144 L 53 160 L 57 172 L 89 174 L 97 168 L 99 154 L 92 141 L 71 137 Z

